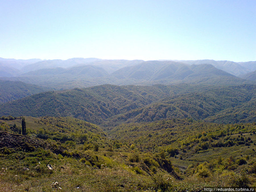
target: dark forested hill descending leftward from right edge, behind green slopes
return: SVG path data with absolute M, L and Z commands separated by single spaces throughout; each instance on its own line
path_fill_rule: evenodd
M 227 86 L 202 92 L 166 97 L 109 119 L 108 125 L 122 122 L 151 122 L 170 118 L 192 118 L 215 123 L 255 121 L 255 85 Z

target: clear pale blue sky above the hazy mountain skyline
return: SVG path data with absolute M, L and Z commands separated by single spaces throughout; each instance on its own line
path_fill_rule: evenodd
M 0 57 L 256 61 L 256 1 L 0 0 Z

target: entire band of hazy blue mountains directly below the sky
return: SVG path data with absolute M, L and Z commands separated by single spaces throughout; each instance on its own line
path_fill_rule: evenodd
M 174 83 L 241 84 L 256 62 L 214 60 L 143 61 L 72 58 L 67 60 L 0 60 L 0 77 L 55 89 L 100 84 L 153 85 Z M 244 76 L 243 76 L 244 75 Z M 238 77 L 239 76 L 239 77 Z M 242 77 L 242 78 L 240 78 Z M 244 77 L 244 79 L 243 79 Z

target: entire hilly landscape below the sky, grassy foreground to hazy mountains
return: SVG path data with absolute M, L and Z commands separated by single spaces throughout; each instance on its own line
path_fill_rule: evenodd
M 2 191 L 256 186 L 253 62 L 0 61 Z

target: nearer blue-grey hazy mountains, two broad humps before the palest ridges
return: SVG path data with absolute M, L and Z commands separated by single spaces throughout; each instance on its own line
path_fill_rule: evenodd
M 55 89 L 82 88 L 100 84 L 154 85 L 200 83 L 234 85 L 246 82 L 246 80 L 216 69 L 216 67 L 210 64 L 186 65 L 175 61 L 144 61 L 137 65 L 123 67 L 111 74 L 99 66 L 78 65 L 65 69 L 53 68 L 30 71 L 18 77 L 5 79 Z

